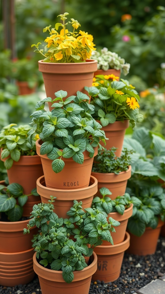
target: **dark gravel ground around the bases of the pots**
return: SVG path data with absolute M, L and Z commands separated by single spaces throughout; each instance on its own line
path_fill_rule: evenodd
M 156 253 L 138 256 L 125 253 L 120 277 L 111 283 L 92 281 L 89 294 L 132 294 L 147 285 L 151 280 L 163 276 L 165 273 L 165 238 L 158 240 Z M 40 294 L 38 277 L 27 285 L 16 287 L 0 286 L 1 294 Z M 50 294 L 50 293 L 48 293 Z M 58 294 L 58 293 L 57 293 Z M 66 293 L 67 294 L 67 293 Z

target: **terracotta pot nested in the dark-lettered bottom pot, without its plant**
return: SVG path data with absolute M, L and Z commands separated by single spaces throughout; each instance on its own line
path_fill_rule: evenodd
M 120 225 L 115 227 L 116 232 L 111 233 L 114 245 L 124 241 L 128 219 L 132 216 L 132 213 L 133 204 L 131 204 L 131 206 L 124 211 L 123 215 L 119 214 L 118 212 L 111 212 L 108 214 L 107 220 L 109 217 L 111 217 L 120 222 Z M 108 241 L 103 241 L 102 245 L 111 245 L 111 243 Z

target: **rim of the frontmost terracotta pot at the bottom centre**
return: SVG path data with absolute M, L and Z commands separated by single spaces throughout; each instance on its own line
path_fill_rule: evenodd
M 42 278 L 45 279 L 46 278 L 46 273 L 48 273 L 48 280 L 54 281 L 55 278 L 56 278 L 57 282 L 66 283 L 63 280 L 63 277 L 62 277 L 62 270 L 50 270 L 48 268 L 44 268 L 42 265 L 40 265 L 37 262 L 36 254 L 37 253 L 35 252 L 34 255 L 33 255 L 33 267 L 34 267 L 34 271 L 36 272 L 36 274 L 39 277 L 42 277 Z M 94 256 L 94 260 L 92 261 L 92 263 L 90 265 L 88 265 L 83 270 L 74 270 L 73 271 L 74 279 L 73 279 L 72 282 L 83 280 L 84 278 L 88 278 L 88 277 L 92 276 L 95 273 L 95 271 L 97 270 L 97 255 L 96 255 L 95 252 L 93 252 L 92 255 Z

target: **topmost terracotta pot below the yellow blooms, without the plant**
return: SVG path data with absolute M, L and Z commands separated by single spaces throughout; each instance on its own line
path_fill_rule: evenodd
M 38 66 L 43 75 L 46 96 L 53 100 L 56 98 L 54 93 L 59 90 L 67 91 L 67 97 L 76 95 L 77 91 L 87 94 L 84 87 L 92 87 L 97 60 L 88 59 L 82 63 L 49 63 L 39 60 Z M 48 105 L 52 110 L 52 103 Z

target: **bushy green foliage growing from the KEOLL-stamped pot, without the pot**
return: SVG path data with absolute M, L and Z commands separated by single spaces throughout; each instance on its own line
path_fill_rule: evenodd
M 88 88 L 91 95 L 90 88 Z M 92 91 L 92 90 L 91 90 Z M 87 150 L 89 156 L 94 156 L 94 148 L 100 146 L 100 140 L 105 143 L 105 133 L 102 126 L 92 118 L 94 106 L 87 103 L 89 96 L 77 92 L 77 96 L 67 96 L 66 91 L 55 93 L 53 101 L 50 97 L 43 99 L 36 105 L 32 113 L 33 130 L 29 131 L 29 142 L 36 132 L 43 141 L 40 153 L 47 154 L 53 160 L 52 168 L 55 173 L 63 170 L 63 158 L 73 158 L 77 163 L 84 161 L 83 152 Z M 45 102 L 51 102 L 52 111 L 44 109 Z M 56 102 L 57 101 L 57 102 Z

